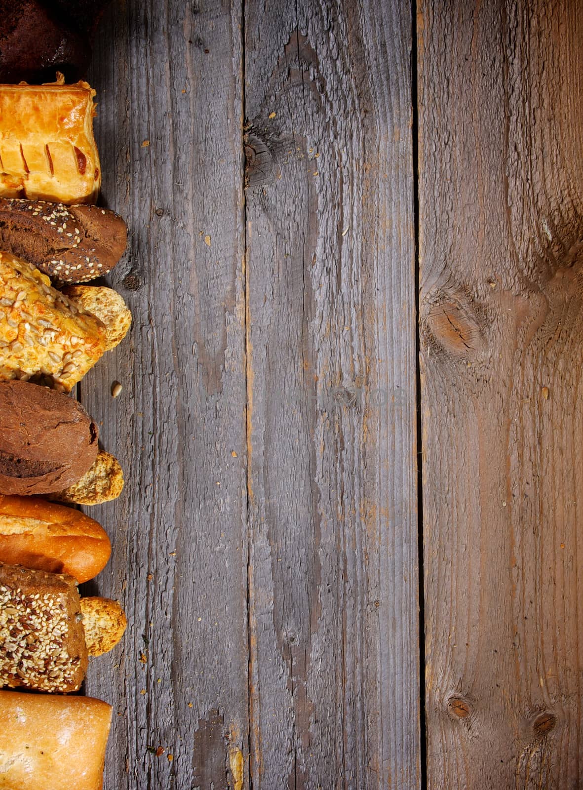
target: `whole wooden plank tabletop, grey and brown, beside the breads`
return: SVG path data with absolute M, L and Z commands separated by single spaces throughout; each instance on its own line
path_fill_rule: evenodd
M 104 17 L 106 790 L 579 786 L 580 10 Z

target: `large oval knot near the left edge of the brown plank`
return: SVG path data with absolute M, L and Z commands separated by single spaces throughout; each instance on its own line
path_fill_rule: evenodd
M 437 344 L 455 355 L 476 355 L 483 351 L 480 311 L 465 293 L 433 295 L 426 315 L 426 339 L 430 345 Z

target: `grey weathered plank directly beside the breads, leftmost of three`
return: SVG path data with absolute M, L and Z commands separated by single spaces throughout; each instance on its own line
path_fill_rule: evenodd
M 87 681 L 118 713 L 115 790 L 240 790 L 246 759 L 240 17 L 218 0 L 115 3 L 94 57 L 103 201 L 130 228 L 111 282 L 134 312 L 81 387 L 126 470 L 96 514 L 114 540 L 96 586 L 130 626 Z

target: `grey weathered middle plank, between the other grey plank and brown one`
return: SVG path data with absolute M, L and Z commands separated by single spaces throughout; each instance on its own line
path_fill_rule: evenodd
M 254 788 L 419 786 L 411 31 L 246 2 Z

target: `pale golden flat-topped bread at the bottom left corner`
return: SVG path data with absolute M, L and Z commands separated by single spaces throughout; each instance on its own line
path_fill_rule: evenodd
M 0 788 L 102 790 L 111 706 L 0 691 Z

